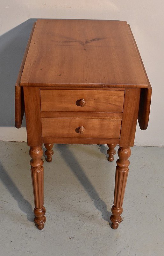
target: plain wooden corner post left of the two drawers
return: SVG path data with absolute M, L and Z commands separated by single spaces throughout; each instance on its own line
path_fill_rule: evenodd
M 38 87 L 24 87 L 27 144 L 42 146 L 40 90 Z

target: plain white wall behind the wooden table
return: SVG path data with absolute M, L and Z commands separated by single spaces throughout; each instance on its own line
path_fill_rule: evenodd
M 150 122 L 137 127 L 135 145 L 164 146 L 163 0 L 0 1 L 0 140 L 26 141 L 25 121 L 14 127 L 14 85 L 25 46 L 37 18 L 126 20 L 153 87 Z

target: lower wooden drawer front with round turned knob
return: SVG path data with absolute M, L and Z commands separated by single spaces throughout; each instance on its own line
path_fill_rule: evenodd
M 43 138 L 120 138 L 121 118 L 41 118 Z

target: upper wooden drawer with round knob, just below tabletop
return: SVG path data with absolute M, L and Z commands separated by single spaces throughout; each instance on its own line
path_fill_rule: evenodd
M 40 90 L 41 111 L 123 112 L 118 90 Z

